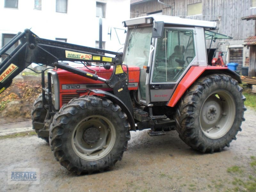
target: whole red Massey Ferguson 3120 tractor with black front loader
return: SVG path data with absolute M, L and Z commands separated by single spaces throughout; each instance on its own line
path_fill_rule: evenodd
M 158 136 L 176 129 L 203 153 L 229 147 L 246 110 L 241 79 L 207 64 L 205 41 L 230 37 L 207 30 L 215 22 L 178 17 L 148 15 L 123 25 L 124 53 L 42 39 L 26 29 L 0 50 L 6 55 L 0 92 L 31 63 L 53 68 L 46 86 L 42 71 L 33 129 L 49 141 L 57 161 L 77 174 L 114 166 L 127 150 L 130 131 L 149 129 Z

